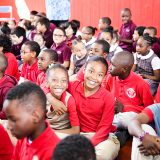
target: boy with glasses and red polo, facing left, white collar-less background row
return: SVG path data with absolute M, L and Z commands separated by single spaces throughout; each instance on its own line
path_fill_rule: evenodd
M 24 64 L 22 66 L 19 84 L 26 80 L 37 82 L 37 77 L 41 73 L 41 71 L 38 70 L 37 60 L 39 52 L 40 46 L 37 42 L 28 41 L 23 44 L 21 48 L 21 58 Z

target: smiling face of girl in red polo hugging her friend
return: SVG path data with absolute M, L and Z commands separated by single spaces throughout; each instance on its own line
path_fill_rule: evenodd
M 84 90 L 96 93 L 106 75 L 106 66 L 100 61 L 92 61 L 84 69 Z

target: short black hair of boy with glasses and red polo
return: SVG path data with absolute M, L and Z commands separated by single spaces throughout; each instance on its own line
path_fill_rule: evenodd
M 40 53 L 40 46 L 37 42 L 35 41 L 27 41 L 23 45 L 27 45 L 30 49 L 30 51 L 36 52 L 36 57 L 38 57 Z

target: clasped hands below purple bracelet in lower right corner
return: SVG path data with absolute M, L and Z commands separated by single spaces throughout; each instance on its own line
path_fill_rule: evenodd
M 144 155 L 160 154 L 160 138 L 152 135 L 145 135 L 142 139 L 142 144 L 138 146 L 140 153 Z

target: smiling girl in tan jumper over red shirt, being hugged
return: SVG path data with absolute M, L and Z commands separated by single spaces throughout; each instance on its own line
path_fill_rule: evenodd
M 76 111 L 74 98 L 66 92 L 68 88 L 69 76 L 65 67 L 55 64 L 47 70 L 46 86 L 50 88 L 52 95 L 59 101 L 62 101 L 67 108 L 67 112 L 57 116 L 51 105 L 47 106 L 46 120 L 56 132 L 59 138 L 64 134 L 79 134 L 79 119 Z

